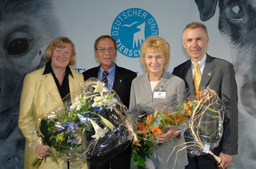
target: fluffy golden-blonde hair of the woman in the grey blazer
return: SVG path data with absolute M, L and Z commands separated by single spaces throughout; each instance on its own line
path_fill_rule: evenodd
M 165 57 L 165 63 L 163 69 L 168 65 L 170 60 L 170 45 L 167 43 L 163 38 L 158 37 L 157 35 L 150 36 L 145 39 L 145 41 L 141 44 L 140 47 L 140 56 L 141 56 L 141 62 L 143 66 L 147 69 L 146 65 L 146 53 L 147 52 L 158 52 L 162 51 L 164 53 Z

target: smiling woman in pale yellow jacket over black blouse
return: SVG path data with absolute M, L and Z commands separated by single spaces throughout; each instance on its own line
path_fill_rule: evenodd
M 69 65 L 75 64 L 75 46 L 67 37 L 58 37 L 50 42 L 45 50 L 45 58 L 49 61 L 42 69 L 26 75 L 21 94 L 18 125 L 26 137 L 25 169 L 32 169 L 31 163 L 37 156 L 45 158 L 48 148 L 40 144 L 37 152 L 28 148 L 34 135 L 34 122 L 48 114 L 56 105 L 63 104 L 62 99 L 83 83 L 83 75 L 71 70 Z M 67 162 L 59 158 L 58 163 L 50 157 L 41 167 L 50 169 L 87 169 L 86 159 L 81 162 Z

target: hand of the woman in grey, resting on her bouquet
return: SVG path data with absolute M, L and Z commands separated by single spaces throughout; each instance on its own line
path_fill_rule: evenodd
M 180 134 L 179 129 L 174 125 L 165 125 L 164 127 L 169 128 L 169 131 L 164 135 L 159 135 L 156 137 L 156 139 L 158 139 L 159 142 L 162 142 L 162 143 L 168 142 Z

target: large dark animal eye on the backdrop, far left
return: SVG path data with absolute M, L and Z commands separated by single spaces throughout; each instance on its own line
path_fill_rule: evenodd
M 24 32 L 12 33 L 5 42 L 5 49 L 9 56 L 20 57 L 31 49 L 31 37 Z

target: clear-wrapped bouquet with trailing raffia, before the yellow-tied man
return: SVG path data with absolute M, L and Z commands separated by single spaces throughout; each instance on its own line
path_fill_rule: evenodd
M 192 111 L 189 128 L 184 133 L 187 153 L 190 156 L 212 154 L 223 133 L 224 103 L 207 87 L 198 90 L 197 95 L 188 95 L 186 104 Z

